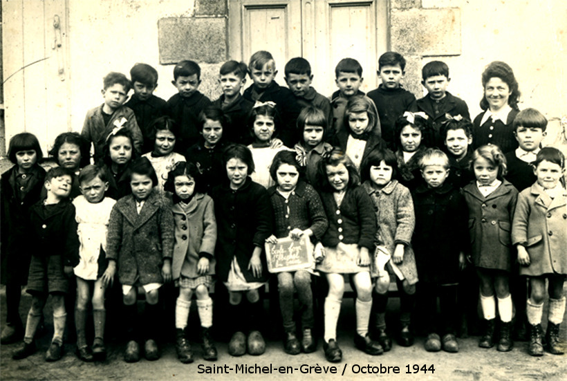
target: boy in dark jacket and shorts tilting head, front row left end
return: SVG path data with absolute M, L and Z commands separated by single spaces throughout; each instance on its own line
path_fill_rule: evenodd
M 53 305 L 53 339 L 46 353 L 46 361 L 62 357 L 63 333 L 66 324 L 64 297 L 68 292 L 68 277 L 79 263 L 79 237 L 75 221 L 75 207 L 69 201 L 73 175 L 63 167 L 48 171 L 44 186 L 45 199 L 30 207 L 28 245 L 32 253 L 28 277 L 28 292 L 32 295 L 24 345 L 12 358 L 21 360 L 35 353 L 37 326 L 41 322 L 47 297 Z

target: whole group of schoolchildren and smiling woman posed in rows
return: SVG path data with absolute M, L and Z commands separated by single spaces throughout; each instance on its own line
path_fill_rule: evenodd
M 241 94 L 247 74 L 253 84 Z M 57 167 L 46 173 L 39 166 L 32 134 L 10 140 L 15 166 L 1 177 L 2 343 L 23 337 L 14 359 L 37 351 L 34 337 L 51 295 L 48 361 L 62 357 L 67 313 L 75 320 L 77 356 L 104 360 L 108 308 L 126 327 L 127 362 L 142 352 L 158 359 L 158 327 L 173 324 L 179 360 L 193 362 L 187 326 L 195 294 L 202 356 L 216 360 L 215 285 L 215 293 L 227 294 L 216 302 L 224 304 L 223 324 L 232 334 L 230 355 L 261 355 L 261 331 L 271 321 L 283 326 L 286 353 L 315 351 L 320 334 L 326 359 L 340 362 L 345 281 L 356 295 L 354 344 L 379 355 L 392 346 L 391 279 L 400 296 L 400 346 L 413 344 L 413 326 L 420 325 L 427 351 L 458 352 L 461 319 L 472 324 L 480 301 L 479 346 L 510 351 L 512 331 L 521 336 L 527 326 L 531 355 L 543 355 L 544 347 L 563 353 L 564 156 L 541 147 L 546 118 L 518 110 L 510 66 L 492 62 L 485 69 L 484 111 L 474 122 L 465 102 L 447 92 L 443 62 L 422 69 L 428 94 L 420 100 L 400 84 L 405 59 L 393 52 L 380 57 L 382 84 L 368 94 L 359 89 L 355 59 L 337 64 L 339 90 L 329 98 L 310 86 L 306 59 L 286 64 L 288 88 L 276 74 L 266 51 L 254 53 L 248 67 L 226 62 L 223 94 L 211 102 L 198 91 L 198 64 L 183 61 L 174 68 L 178 93 L 165 102 L 153 95 L 156 70 L 136 64 L 131 80 L 104 77 L 104 104 L 87 113 L 81 134 L 57 137 L 50 151 Z M 305 237 L 310 266 L 270 274 L 265 245 Z M 73 274 L 71 313 L 65 299 L 75 294 Z M 106 299 L 105 306 L 105 292 L 117 282 L 122 301 L 109 307 Z M 178 288 L 174 322 L 160 309 L 160 288 L 170 282 Z M 263 308 L 268 283 L 270 319 Z M 32 295 L 25 326 L 24 284 Z M 141 317 L 138 290 L 145 294 Z

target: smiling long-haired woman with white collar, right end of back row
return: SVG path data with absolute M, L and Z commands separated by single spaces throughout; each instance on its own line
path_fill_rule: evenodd
M 505 62 L 494 61 L 482 75 L 483 98 L 481 109 L 473 121 L 473 149 L 483 145 L 497 145 L 503 152 L 517 149 L 514 138 L 514 118 L 519 113 L 520 91 L 514 71 Z

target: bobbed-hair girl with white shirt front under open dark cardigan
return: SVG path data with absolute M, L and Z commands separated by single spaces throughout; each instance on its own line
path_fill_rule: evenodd
M 384 147 L 380 138 L 380 119 L 369 97 L 351 97 L 344 110 L 343 129 L 333 137 L 333 145 L 340 147 L 353 161 L 356 169 L 374 147 Z

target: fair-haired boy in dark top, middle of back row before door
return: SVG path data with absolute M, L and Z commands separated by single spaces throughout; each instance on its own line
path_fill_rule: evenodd
M 295 122 L 301 108 L 290 89 L 275 82 L 277 70 L 272 54 L 266 50 L 254 53 L 248 64 L 248 75 L 254 83 L 244 91 L 243 97 L 250 102 L 275 102 L 281 119 L 281 125 L 276 126 L 277 137 L 283 145 L 293 147 L 299 141 Z

